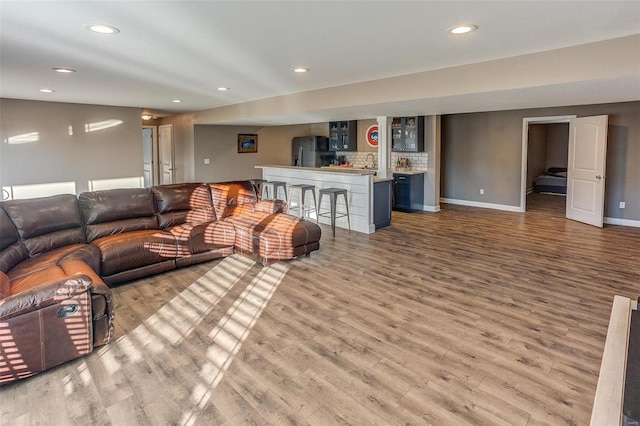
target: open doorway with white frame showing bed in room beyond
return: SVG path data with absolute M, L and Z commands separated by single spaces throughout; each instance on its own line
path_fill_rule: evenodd
M 522 211 L 564 214 L 569 122 L 575 116 L 525 118 L 522 137 Z

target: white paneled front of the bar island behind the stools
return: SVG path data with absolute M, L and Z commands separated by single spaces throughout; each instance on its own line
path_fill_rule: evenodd
M 373 170 L 347 169 L 347 168 L 316 168 L 293 166 L 256 166 L 262 169 L 262 178 L 267 181 L 282 181 L 289 185 L 306 184 L 315 185 L 316 198 L 322 188 L 344 188 L 347 190 L 349 201 L 349 219 L 351 230 L 371 234 L 375 232 L 373 221 Z M 287 196 L 290 191 L 287 189 Z M 295 201 L 295 200 L 294 200 Z M 319 200 L 318 200 L 319 201 Z M 345 212 L 343 197 L 338 197 L 337 212 Z M 329 212 L 329 197 L 324 197 L 319 206 L 321 213 Z M 316 219 L 314 212 L 311 218 Z M 330 225 L 328 217 L 321 217 L 320 223 Z M 336 228 L 348 229 L 346 217 L 336 219 Z

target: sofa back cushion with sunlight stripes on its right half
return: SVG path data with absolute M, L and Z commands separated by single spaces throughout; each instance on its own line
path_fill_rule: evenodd
M 211 194 L 201 183 L 159 185 L 151 188 L 161 229 L 183 223 L 215 220 Z

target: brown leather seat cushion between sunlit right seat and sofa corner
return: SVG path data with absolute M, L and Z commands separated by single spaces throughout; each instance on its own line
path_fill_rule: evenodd
M 104 277 L 175 259 L 175 237 L 160 230 L 139 230 L 110 235 L 91 242 L 100 249 Z

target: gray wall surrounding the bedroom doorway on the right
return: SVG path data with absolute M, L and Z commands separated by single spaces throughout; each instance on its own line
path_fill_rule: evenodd
M 442 197 L 518 206 L 523 118 L 571 114 L 609 115 L 605 216 L 640 220 L 640 102 L 445 115 Z

